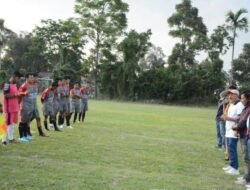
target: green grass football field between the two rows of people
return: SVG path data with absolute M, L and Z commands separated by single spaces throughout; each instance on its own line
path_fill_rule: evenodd
M 0 147 L 0 190 L 235 190 L 214 109 L 90 101 L 84 124 Z M 17 132 L 16 132 L 17 137 Z M 240 171 L 243 159 L 240 153 Z

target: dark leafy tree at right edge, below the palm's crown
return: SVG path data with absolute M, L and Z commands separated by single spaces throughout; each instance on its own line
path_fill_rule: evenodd
M 250 43 L 244 44 L 243 52 L 233 60 L 233 77 L 241 88 L 250 88 Z

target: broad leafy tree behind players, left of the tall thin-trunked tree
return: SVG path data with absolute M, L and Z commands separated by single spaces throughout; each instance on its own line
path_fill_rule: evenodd
M 65 74 L 66 68 L 70 68 L 74 70 L 70 72 L 72 78 L 80 78 L 86 40 L 74 19 L 43 20 L 42 26 L 37 27 L 34 33 L 45 44 L 43 53 L 55 74 Z

